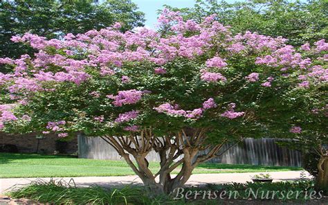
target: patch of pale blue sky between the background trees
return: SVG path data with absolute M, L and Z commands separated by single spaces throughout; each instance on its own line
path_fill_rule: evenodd
M 163 5 L 169 5 L 176 8 L 190 8 L 194 6 L 194 0 L 131 0 L 136 3 L 139 10 L 145 13 L 145 26 L 154 28 L 157 22 L 157 10 L 162 9 Z M 236 0 L 228 0 L 232 3 Z

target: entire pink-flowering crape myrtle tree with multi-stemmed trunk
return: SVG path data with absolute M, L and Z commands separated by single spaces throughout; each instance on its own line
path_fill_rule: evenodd
M 289 133 L 293 124 L 275 129 L 293 113 L 277 102 L 289 89 L 307 88 L 301 73 L 325 71 L 327 43 L 316 43 L 311 60 L 282 37 L 231 35 L 214 19 L 197 24 L 164 10 L 157 31 L 120 33 L 115 24 L 63 40 L 12 37 L 38 52 L 1 59 L 14 70 L 0 75 L 1 129 L 102 136 L 154 193 L 183 186 L 225 143 Z M 320 75 L 316 82 L 327 82 Z M 152 150 L 158 172 L 148 167 Z

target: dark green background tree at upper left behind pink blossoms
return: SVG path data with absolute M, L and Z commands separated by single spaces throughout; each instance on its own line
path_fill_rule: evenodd
M 115 22 L 121 30 L 143 26 L 143 12 L 130 0 L 93 1 L 15 0 L 0 2 L 0 57 L 32 55 L 33 49 L 10 40 L 13 35 L 33 33 L 48 39 L 67 33 L 85 33 L 106 28 Z

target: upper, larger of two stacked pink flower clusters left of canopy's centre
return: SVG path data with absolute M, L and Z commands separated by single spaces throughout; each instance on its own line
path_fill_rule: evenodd
M 137 91 L 136 89 L 131 89 L 127 91 L 118 91 L 117 96 L 109 95 L 107 98 L 113 99 L 113 105 L 117 107 L 122 107 L 122 105 L 129 105 L 138 103 L 138 101 L 143 96 L 143 91 Z

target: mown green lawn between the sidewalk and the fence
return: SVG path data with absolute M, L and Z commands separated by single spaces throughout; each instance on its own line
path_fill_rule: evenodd
M 156 172 L 159 165 L 149 164 Z M 178 168 L 179 169 L 179 168 Z M 301 170 L 295 167 L 251 166 L 203 163 L 194 174 L 232 173 L 232 172 L 265 172 Z M 125 161 L 78 159 L 70 156 L 44 154 L 0 153 L 0 177 L 87 177 L 87 176 L 126 176 L 134 175 Z

